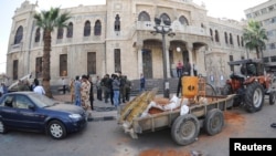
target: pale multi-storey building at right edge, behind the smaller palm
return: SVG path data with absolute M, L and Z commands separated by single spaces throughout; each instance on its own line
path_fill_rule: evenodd
M 268 41 L 263 50 L 264 60 L 276 71 L 276 1 L 268 0 L 245 11 L 247 19 L 259 21 L 267 32 Z

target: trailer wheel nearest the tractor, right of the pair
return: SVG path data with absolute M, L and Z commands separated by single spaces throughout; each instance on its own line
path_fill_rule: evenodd
M 215 135 L 222 131 L 224 125 L 224 116 L 221 110 L 213 108 L 208 112 L 204 119 L 204 129 L 209 135 Z

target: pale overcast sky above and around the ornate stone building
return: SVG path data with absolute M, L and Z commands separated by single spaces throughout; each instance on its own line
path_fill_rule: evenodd
M 12 17 L 17 8 L 25 0 L 0 0 L 0 73 L 6 73 L 7 50 L 9 42 L 9 34 L 11 29 Z M 35 3 L 36 0 L 29 0 Z M 40 10 L 47 10 L 50 7 L 76 7 L 78 4 L 93 6 L 105 4 L 106 0 L 38 0 Z M 208 15 L 213 18 L 227 18 L 240 21 L 245 19 L 244 10 L 266 2 L 268 0 L 193 0 L 193 2 L 201 4 L 205 3 Z

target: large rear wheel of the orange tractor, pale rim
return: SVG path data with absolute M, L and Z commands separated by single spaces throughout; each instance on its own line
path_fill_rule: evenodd
M 258 112 L 264 105 L 264 89 L 257 82 L 247 85 L 245 91 L 245 108 L 250 113 Z

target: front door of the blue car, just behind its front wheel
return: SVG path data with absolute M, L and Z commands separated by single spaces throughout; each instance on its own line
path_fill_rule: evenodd
M 17 95 L 14 102 L 17 123 L 28 129 L 43 129 L 46 115 L 25 95 Z

